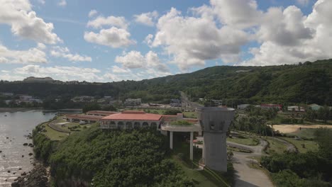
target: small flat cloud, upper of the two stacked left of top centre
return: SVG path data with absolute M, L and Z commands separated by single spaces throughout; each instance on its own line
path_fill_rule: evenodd
M 126 29 L 128 23 L 124 17 L 109 16 L 105 18 L 104 16 L 98 16 L 92 21 L 87 23 L 87 26 L 92 28 L 103 28 L 103 26 L 115 26 L 118 28 Z

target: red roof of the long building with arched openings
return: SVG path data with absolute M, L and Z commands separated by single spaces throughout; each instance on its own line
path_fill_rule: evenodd
M 102 120 L 160 120 L 162 115 L 145 113 L 144 111 L 123 111 L 122 113 L 115 113 L 108 115 Z

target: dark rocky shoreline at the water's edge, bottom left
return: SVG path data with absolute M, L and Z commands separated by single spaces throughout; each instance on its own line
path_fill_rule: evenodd
M 43 164 L 36 164 L 32 171 L 28 174 L 23 173 L 11 183 L 13 187 L 48 187 L 50 172 Z

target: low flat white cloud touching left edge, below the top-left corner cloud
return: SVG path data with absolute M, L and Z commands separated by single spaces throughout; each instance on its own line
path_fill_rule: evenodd
M 46 54 L 43 52 L 45 45 L 38 44 L 28 50 L 9 50 L 4 45 L 0 45 L 0 63 L 9 64 L 31 64 L 46 63 Z

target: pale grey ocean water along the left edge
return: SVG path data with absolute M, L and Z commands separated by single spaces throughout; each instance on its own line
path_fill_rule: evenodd
M 55 113 L 42 111 L 0 113 L 0 186 L 11 186 L 13 179 L 33 169 L 33 155 L 28 155 L 33 148 L 23 146 L 32 140 L 26 136 L 36 125 L 54 116 Z

